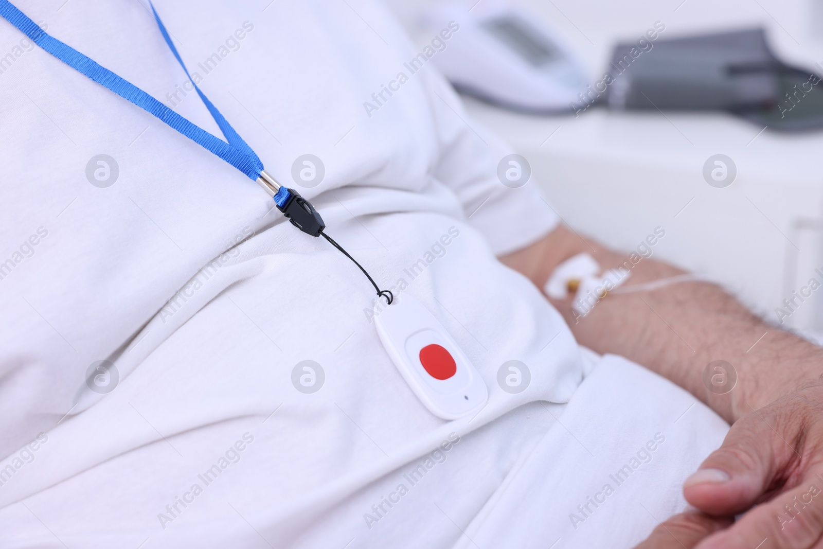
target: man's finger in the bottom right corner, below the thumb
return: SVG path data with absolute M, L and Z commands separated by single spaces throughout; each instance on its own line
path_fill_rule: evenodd
M 811 549 L 823 533 L 823 482 L 809 476 L 790 491 L 752 509 L 699 549 Z

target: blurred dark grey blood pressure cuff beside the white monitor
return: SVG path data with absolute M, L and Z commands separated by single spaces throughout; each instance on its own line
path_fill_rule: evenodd
M 607 71 L 611 109 L 726 110 L 774 129 L 823 128 L 821 77 L 780 61 L 763 29 L 618 44 Z

